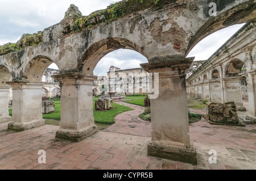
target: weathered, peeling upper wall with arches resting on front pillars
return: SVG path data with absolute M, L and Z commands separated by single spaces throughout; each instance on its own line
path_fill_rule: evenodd
M 43 70 L 52 62 L 61 72 L 93 74 L 98 61 L 112 50 L 133 49 L 150 62 L 185 57 L 209 33 L 255 19 L 255 11 L 251 8 L 255 7 L 253 1 L 216 1 L 218 8 L 217 16 L 214 17 L 209 16 L 209 2 L 212 1 L 154 2 L 122 1 L 102 10 L 102 13 L 110 12 L 115 6 L 118 11 L 123 10 L 121 14 L 113 14 L 111 19 L 106 18 L 101 11 L 80 17 L 79 12 L 71 13 L 76 9 L 71 6 L 60 23 L 32 36 L 32 43 L 2 54 L 0 65 L 6 66 L 14 80 L 38 81 Z M 240 10 L 244 10 L 242 15 L 234 13 Z M 105 15 L 105 19 L 100 20 L 100 15 Z M 76 29 L 81 18 L 89 21 L 90 26 Z M 39 35 L 40 40 L 35 40 Z

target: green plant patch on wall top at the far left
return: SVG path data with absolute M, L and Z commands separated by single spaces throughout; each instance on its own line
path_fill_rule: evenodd
M 7 43 L 0 46 L 0 55 L 15 52 L 28 46 L 37 45 L 43 41 L 43 32 L 23 34 L 17 43 Z

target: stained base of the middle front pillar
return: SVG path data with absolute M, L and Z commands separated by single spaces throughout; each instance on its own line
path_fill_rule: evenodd
M 59 129 L 56 132 L 55 138 L 60 140 L 67 140 L 67 141 L 73 141 L 73 142 L 80 142 L 84 140 L 85 138 L 92 136 L 92 134 L 98 132 L 98 128 L 96 125 L 90 125 L 86 127 L 82 131 L 73 131 L 69 129 Z

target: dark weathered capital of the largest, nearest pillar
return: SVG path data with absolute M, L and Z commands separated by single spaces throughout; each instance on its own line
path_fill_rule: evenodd
M 184 74 L 185 70 L 190 67 L 195 57 L 190 58 L 176 58 L 167 57 L 160 60 L 148 62 L 146 64 L 140 64 L 141 67 L 148 72 L 162 72 L 162 69 L 177 70 L 179 73 Z

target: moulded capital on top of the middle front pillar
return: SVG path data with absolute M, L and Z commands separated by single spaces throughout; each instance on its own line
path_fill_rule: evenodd
M 63 85 L 90 85 L 93 86 L 93 81 L 97 80 L 96 75 L 88 75 L 83 73 L 71 72 L 51 75 L 52 78 L 57 79 L 60 82 L 60 86 Z

